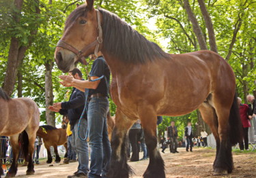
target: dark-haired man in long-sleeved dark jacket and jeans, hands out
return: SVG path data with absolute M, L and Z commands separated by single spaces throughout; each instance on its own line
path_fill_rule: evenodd
M 74 68 L 68 73 L 68 76 L 79 81 L 83 81 L 83 75 L 81 71 Z M 89 173 L 89 151 L 87 140 L 79 139 L 79 135 L 85 138 L 85 133 L 87 131 L 87 115 L 83 115 L 79 128 L 79 118 L 83 113 L 85 107 L 85 93 L 80 90 L 73 88 L 70 100 L 62 103 L 54 103 L 53 106 L 49 107 L 51 111 L 59 112 L 61 115 L 68 114 L 70 119 L 70 130 L 72 131 L 72 143 L 74 145 L 77 158 L 79 161 L 79 166 L 77 171 L 73 175 L 69 175 L 68 178 L 83 177 L 87 178 Z

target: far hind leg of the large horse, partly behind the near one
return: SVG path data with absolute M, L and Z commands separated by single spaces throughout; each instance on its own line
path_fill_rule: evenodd
M 216 164 L 215 162 L 217 160 L 217 156 L 218 156 L 218 152 L 221 144 L 220 137 L 218 135 L 218 118 L 217 118 L 214 107 L 212 107 L 212 105 L 210 105 L 208 102 L 203 103 L 199 107 L 199 111 L 202 115 L 204 122 L 208 124 L 208 126 L 210 126 L 212 130 L 212 134 L 214 135 L 214 138 L 216 141 L 216 156 L 213 164 L 214 166 Z

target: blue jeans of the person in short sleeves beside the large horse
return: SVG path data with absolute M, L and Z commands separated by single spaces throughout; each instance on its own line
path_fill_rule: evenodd
M 106 177 L 109 171 L 111 145 L 106 126 L 106 113 L 109 111 L 109 100 L 94 97 L 89 101 L 88 137 L 91 148 L 91 164 L 89 178 Z

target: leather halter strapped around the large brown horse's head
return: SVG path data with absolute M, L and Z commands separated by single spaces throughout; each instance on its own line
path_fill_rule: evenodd
M 77 50 L 76 48 L 74 48 L 74 46 L 71 46 L 70 44 L 66 43 L 66 41 L 63 41 L 62 39 L 60 39 L 57 43 L 57 46 L 59 46 L 61 48 L 65 48 L 66 50 L 69 50 L 69 51 L 73 52 L 74 54 L 76 54 L 76 56 L 78 58 L 77 60 L 80 61 L 81 63 L 83 63 L 83 65 L 87 65 L 87 61 L 85 60 L 85 56 L 83 56 L 83 54 L 85 52 L 87 52 L 87 50 L 89 50 L 90 48 L 95 46 L 94 55 L 96 57 L 98 57 L 98 50 L 100 48 L 100 44 L 103 41 L 99 10 L 96 10 L 96 16 L 97 16 L 97 21 L 98 21 L 98 37 L 96 38 L 95 41 L 93 41 L 93 42 L 89 43 L 89 45 L 85 46 L 85 48 L 83 48 L 82 50 Z

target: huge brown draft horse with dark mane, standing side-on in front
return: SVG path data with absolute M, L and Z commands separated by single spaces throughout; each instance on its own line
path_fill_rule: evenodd
M 117 112 L 109 177 L 129 177 L 125 139 L 137 119 L 150 154 L 143 177 L 165 177 L 156 147 L 156 115 L 184 115 L 197 108 L 216 139 L 214 173 L 231 173 L 231 144 L 242 139 L 242 127 L 235 75 L 221 56 L 208 50 L 167 54 L 115 14 L 95 10 L 93 0 L 68 16 L 61 41 L 63 45 L 55 50 L 61 71 L 68 72 L 79 61 L 84 62 L 83 57 L 93 54 L 98 43 L 111 69 L 111 96 Z

